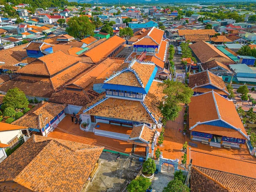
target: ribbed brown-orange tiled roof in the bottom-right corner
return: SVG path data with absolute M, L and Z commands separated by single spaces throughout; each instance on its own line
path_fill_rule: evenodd
M 210 183 L 215 187 L 210 187 Z M 191 191 L 251 192 L 256 186 L 256 179 L 239 174 L 193 166 L 191 173 Z M 226 189 L 226 190 L 224 190 Z

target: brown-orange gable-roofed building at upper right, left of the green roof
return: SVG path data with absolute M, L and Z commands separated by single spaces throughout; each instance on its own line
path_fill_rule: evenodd
M 235 63 L 234 60 L 232 60 L 224 53 L 222 53 L 219 49 L 205 41 L 196 42 L 192 45 L 189 45 L 189 47 L 191 48 L 192 56 L 195 57 L 199 63 L 205 63 L 211 60 L 216 60 L 225 65 Z

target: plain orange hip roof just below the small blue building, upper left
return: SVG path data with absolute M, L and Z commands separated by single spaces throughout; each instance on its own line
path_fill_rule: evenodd
M 65 62 L 63 62 L 63 58 L 65 58 Z M 22 67 L 18 70 L 18 73 L 52 76 L 66 67 L 74 65 L 74 63 L 79 62 L 79 60 L 81 60 L 81 58 L 67 55 L 63 51 L 57 51 L 40 57 L 38 60 Z

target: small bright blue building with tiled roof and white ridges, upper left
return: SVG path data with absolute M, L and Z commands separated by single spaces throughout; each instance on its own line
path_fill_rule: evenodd
M 32 58 L 39 58 L 45 56 L 47 54 L 52 54 L 53 45 L 50 45 L 46 42 L 30 42 L 27 47 L 25 47 L 27 51 L 27 56 Z

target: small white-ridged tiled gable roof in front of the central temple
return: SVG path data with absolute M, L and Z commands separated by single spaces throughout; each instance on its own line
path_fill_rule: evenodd
M 134 125 L 130 134 L 130 138 L 127 142 L 133 143 L 135 145 L 150 147 L 154 135 L 155 131 L 148 125 Z

